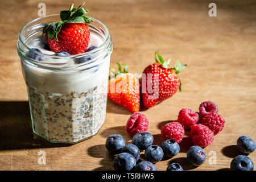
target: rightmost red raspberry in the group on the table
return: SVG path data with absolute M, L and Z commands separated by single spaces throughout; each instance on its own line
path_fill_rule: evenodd
M 202 121 L 202 125 L 208 126 L 213 131 L 214 135 L 220 133 L 225 126 L 225 119 L 220 114 L 208 113 L 205 114 Z

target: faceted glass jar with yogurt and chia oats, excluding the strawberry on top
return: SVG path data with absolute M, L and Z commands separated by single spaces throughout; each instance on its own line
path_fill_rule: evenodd
M 19 32 L 17 51 L 27 85 L 32 128 L 52 143 L 77 143 L 93 137 L 106 120 L 110 55 L 108 27 L 97 19 L 90 34 L 102 44 L 92 51 L 55 56 L 29 48 L 44 24 L 60 21 L 49 15 L 28 22 Z M 33 55 L 32 59 L 31 56 Z M 40 59 L 33 59 L 40 56 Z M 81 61 L 86 60 L 86 61 Z

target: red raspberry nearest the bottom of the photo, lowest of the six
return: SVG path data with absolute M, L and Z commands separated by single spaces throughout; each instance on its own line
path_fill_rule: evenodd
M 193 144 L 199 147 L 209 146 L 214 139 L 213 131 L 201 124 L 192 126 L 190 137 Z

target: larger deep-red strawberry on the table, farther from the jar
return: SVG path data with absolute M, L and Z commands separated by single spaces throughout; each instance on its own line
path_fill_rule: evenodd
M 142 74 L 142 100 L 148 108 L 173 96 L 178 89 L 181 91 L 181 81 L 177 74 L 187 67 L 181 67 L 180 61 L 177 60 L 174 68 L 168 68 L 171 60 L 164 61 L 159 51 L 155 52 L 155 61 L 156 63 L 145 68 Z

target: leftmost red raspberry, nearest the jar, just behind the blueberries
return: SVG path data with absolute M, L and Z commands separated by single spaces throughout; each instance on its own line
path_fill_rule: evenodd
M 126 131 L 130 135 L 135 135 L 142 131 L 147 131 L 148 121 L 144 114 L 133 113 L 126 123 Z

